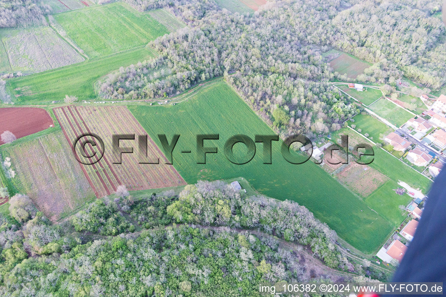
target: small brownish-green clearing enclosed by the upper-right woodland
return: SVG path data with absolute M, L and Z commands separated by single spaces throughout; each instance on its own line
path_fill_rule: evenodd
M 324 56 L 327 57 L 328 64 L 333 68 L 333 71 L 346 74 L 349 78 L 356 78 L 359 74 L 364 73 L 364 69 L 372 66 L 370 63 L 335 49 L 324 53 Z

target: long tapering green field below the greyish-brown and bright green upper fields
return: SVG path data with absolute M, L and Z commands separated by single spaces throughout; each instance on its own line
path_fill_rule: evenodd
M 147 48 L 135 49 L 102 59 L 87 61 L 62 69 L 15 78 L 7 81 L 7 89 L 17 104 L 48 104 L 65 95 L 79 99 L 95 98 L 94 83 L 120 66 L 128 66 L 153 57 Z

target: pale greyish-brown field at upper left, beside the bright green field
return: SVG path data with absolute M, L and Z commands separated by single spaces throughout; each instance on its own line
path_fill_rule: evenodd
M 14 71 L 40 72 L 84 61 L 48 26 L 2 30 L 0 34 L 8 52 L 1 59 L 9 59 Z

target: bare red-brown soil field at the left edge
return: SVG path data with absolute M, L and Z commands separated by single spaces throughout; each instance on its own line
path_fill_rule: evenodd
M 37 107 L 0 108 L 0 134 L 11 131 L 16 138 L 34 134 L 54 125 L 48 112 Z M 0 145 L 4 142 L 0 139 Z

